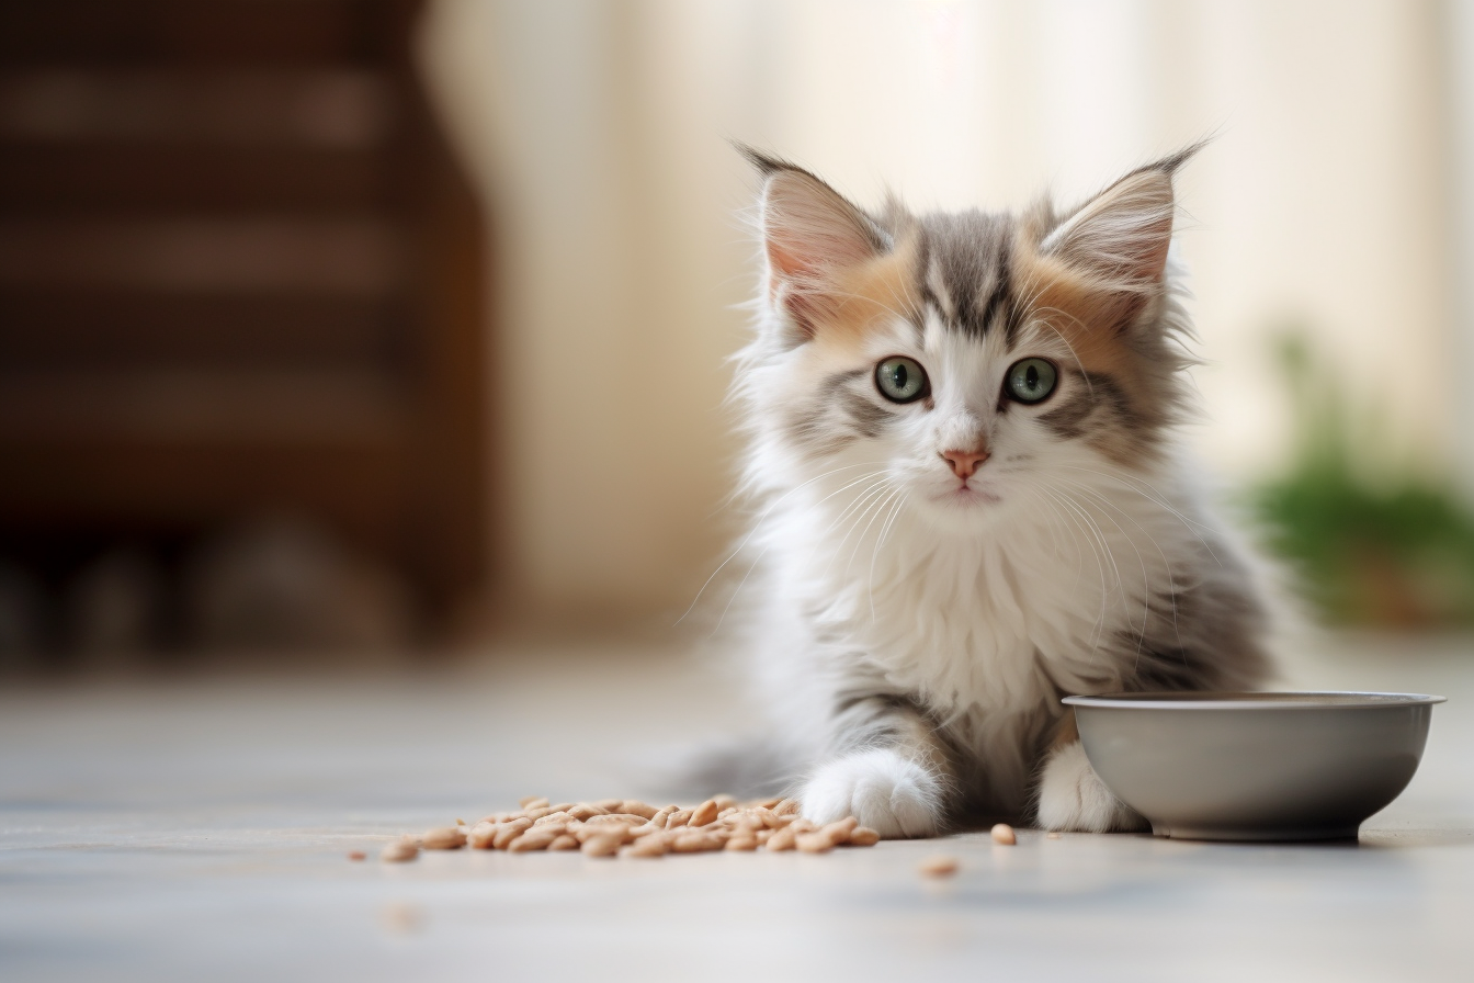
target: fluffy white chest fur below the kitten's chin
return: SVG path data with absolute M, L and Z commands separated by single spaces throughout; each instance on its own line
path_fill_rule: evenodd
M 965 538 L 898 513 L 849 538 L 800 532 L 780 563 L 831 672 L 877 672 L 939 719 L 991 731 L 982 718 L 1057 716 L 1061 691 L 1117 685 L 1132 641 L 1169 626 L 1163 598 L 1201 553 L 1179 506 L 1097 491 Z

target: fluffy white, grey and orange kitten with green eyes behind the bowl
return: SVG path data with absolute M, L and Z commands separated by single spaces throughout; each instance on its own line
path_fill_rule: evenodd
M 764 271 L 736 382 L 741 620 L 808 818 L 1141 828 L 1060 697 L 1266 676 L 1250 560 L 1173 442 L 1172 178 L 1195 149 L 1072 211 L 929 215 L 743 149 Z

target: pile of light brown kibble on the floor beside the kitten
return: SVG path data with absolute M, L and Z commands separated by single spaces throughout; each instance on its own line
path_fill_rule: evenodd
M 708 850 L 803 850 L 827 853 L 836 846 L 874 846 L 880 834 L 850 816 L 818 825 L 799 815 L 794 799 L 738 803 L 716 796 L 699 806 L 656 809 L 634 799 L 566 802 L 523 799 L 516 812 L 497 812 L 479 822 L 405 836 L 383 849 L 389 862 L 413 861 L 422 849 L 582 850 L 588 856 L 665 856 Z

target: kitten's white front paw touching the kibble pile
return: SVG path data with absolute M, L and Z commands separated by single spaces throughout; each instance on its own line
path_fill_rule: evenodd
M 868 750 L 820 768 L 803 788 L 814 822 L 855 816 L 887 840 L 935 836 L 942 786 L 924 768 L 889 750 Z

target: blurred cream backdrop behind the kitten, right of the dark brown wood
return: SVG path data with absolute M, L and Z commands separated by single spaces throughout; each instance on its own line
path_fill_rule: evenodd
M 1405 0 L 439 0 L 425 65 L 500 236 L 519 590 L 678 610 L 719 557 L 752 277 L 727 137 L 862 202 L 1001 206 L 1216 131 L 1182 180 L 1204 457 L 1282 460 L 1266 337 L 1294 320 L 1378 401 L 1375 454 L 1443 460 L 1440 25 Z

